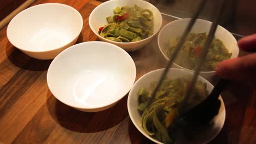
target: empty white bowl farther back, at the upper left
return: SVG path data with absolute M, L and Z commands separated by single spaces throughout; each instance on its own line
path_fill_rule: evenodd
M 10 21 L 7 37 L 11 44 L 38 59 L 53 59 L 74 45 L 83 28 L 83 18 L 72 7 L 46 3 L 21 11 Z

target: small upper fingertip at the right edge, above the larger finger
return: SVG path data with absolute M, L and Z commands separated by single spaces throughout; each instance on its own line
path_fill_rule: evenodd
M 256 34 L 238 40 L 237 44 L 244 51 L 256 52 Z

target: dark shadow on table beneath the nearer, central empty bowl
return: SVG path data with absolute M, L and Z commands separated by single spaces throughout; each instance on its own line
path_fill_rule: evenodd
M 82 112 L 61 103 L 50 91 L 47 107 L 51 117 L 62 127 L 79 133 L 95 133 L 119 124 L 128 115 L 127 96 L 110 109 L 101 112 Z

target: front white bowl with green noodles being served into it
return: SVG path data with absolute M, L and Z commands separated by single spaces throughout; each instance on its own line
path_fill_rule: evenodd
M 132 123 L 149 140 L 155 143 L 208 143 L 216 137 L 225 122 L 225 106 L 222 97 L 218 115 L 203 128 L 183 129 L 177 123 L 181 114 L 184 93 L 190 85 L 193 72 L 171 68 L 156 94 L 153 92 L 165 69 L 157 69 L 140 77 L 132 86 L 127 99 L 127 109 Z M 185 111 L 208 97 L 213 85 L 202 76 L 195 87 Z

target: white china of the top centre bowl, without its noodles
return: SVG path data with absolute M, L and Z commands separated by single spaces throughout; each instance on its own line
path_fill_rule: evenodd
M 106 17 L 113 16 L 114 15 L 113 10 L 116 7 L 123 7 L 126 5 L 133 6 L 134 4 L 138 5 L 139 7 L 147 8 L 152 11 L 152 13 L 154 15 L 154 31 L 153 31 L 154 34 L 153 35 L 151 35 L 147 39 L 143 39 L 143 40 L 136 41 L 136 42 L 120 43 L 120 42 L 115 42 L 112 40 L 105 39 L 98 34 L 98 28 L 100 28 L 108 23 L 106 20 Z M 155 36 L 156 33 L 158 33 L 158 31 L 162 25 L 162 15 L 161 15 L 160 11 L 154 5 L 152 5 L 146 1 L 142 1 L 142 0 L 129 0 L 129 1 L 127 1 L 127 0 L 112 0 L 112 1 L 107 1 L 107 2 L 102 3 L 102 4 L 98 5 L 98 7 L 96 7 L 94 10 L 92 10 L 90 17 L 89 17 L 89 25 L 90 25 L 92 32 L 94 32 L 101 41 L 106 41 L 108 43 L 115 44 L 117 46 L 120 46 L 121 48 L 123 48 L 126 51 L 135 51 L 135 50 L 138 50 L 141 47 L 147 45 L 150 41 L 152 41 L 153 37 Z

